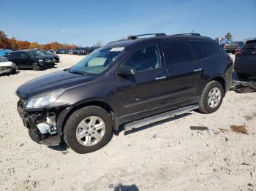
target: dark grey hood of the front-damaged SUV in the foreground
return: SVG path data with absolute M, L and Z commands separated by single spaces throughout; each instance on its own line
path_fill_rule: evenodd
M 60 88 L 67 89 L 74 85 L 90 81 L 91 79 L 93 79 L 93 77 L 72 74 L 67 71 L 56 71 L 20 85 L 16 94 L 20 98 L 30 98 L 31 96 L 46 93 L 51 90 L 58 90 Z

